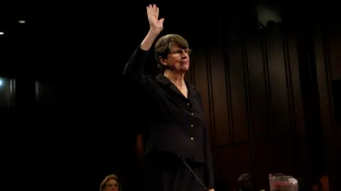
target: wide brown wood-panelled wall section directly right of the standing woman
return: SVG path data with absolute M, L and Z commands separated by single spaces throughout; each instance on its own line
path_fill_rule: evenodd
M 302 177 L 307 169 L 296 38 L 264 32 L 193 55 L 217 179 L 231 186 L 249 173 L 256 187 L 267 189 L 269 173 Z

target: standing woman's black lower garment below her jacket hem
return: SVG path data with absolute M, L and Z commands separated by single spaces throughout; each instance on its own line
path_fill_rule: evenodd
M 195 163 L 188 159 L 185 161 L 200 180 L 197 180 L 188 166 L 175 154 L 158 153 L 146 156 L 142 173 L 144 181 L 139 190 L 204 191 L 202 183 L 205 163 Z

